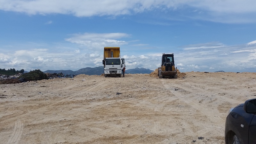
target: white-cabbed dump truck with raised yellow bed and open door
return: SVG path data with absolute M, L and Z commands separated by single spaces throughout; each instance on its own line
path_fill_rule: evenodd
M 121 77 L 122 69 L 125 67 L 124 59 L 120 57 L 120 47 L 104 47 L 104 76 Z

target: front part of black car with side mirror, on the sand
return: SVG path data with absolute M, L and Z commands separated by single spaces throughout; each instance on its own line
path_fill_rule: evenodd
M 226 144 L 256 144 L 256 99 L 230 109 L 225 124 Z

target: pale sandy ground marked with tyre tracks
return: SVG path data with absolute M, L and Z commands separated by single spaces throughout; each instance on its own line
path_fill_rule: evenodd
M 224 144 L 228 110 L 256 98 L 255 78 L 186 72 L 2 84 L 0 143 Z

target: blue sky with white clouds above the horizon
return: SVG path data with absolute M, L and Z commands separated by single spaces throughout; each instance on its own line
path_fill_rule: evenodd
M 78 70 L 120 47 L 126 69 L 256 72 L 255 0 L 0 0 L 0 68 Z

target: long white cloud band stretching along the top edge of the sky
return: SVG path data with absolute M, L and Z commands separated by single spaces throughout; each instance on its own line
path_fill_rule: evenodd
M 24 12 L 29 15 L 52 13 L 72 14 L 77 17 L 132 15 L 142 12 L 161 13 L 182 11 L 186 18 L 228 23 L 256 22 L 255 0 L 1 0 L 0 10 Z M 184 10 L 186 8 L 187 10 Z M 190 11 L 188 11 L 190 10 Z M 181 17 L 166 19 L 182 20 Z M 168 24 L 158 21 L 157 24 Z

